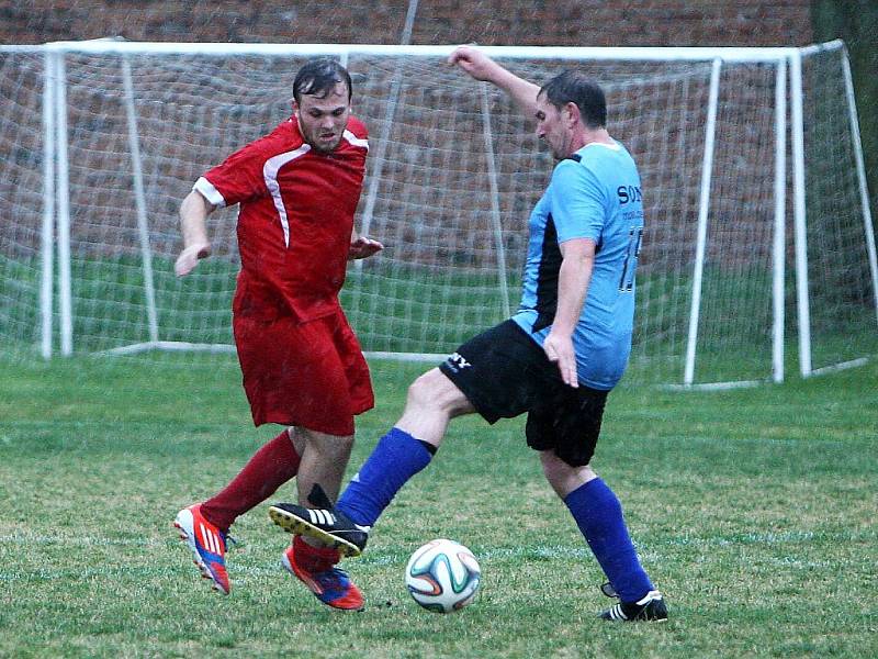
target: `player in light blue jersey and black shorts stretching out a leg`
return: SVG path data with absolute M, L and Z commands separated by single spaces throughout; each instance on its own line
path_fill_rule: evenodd
M 488 423 L 528 413 L 528 445 L 609 579 L 619 603 L 609 621 L 664 621 L 662 594 L 640 565 L 612 490 L 589 466 L 607 394 L 631 350 L 634 272 L 643 234 L 640 176 L 606 130 L 603 90 L 574 71 L 539 88 L 461 46 L 449 62 L 506 91 L 537 120 L 559 160 L 530 216 L 519 311 L 458 348 L 408 390 L 396 426 L 381 438 L 334 506 L 279 503 L 269 512 L 291 533 L 359 555 L 396 492 L 424 469 L 451 418 Z

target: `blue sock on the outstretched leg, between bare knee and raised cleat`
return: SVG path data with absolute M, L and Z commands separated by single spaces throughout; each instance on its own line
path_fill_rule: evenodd
M 430 462 L 424 442 L 392 428 L 348 483 L 336 507 L 354 524 L 372 526 L 396 492 Z

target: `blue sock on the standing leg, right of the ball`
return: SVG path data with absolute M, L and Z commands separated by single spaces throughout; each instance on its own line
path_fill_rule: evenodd
M 628 535 L 622 506 L 607 483 L 590 480 L 567 494 L 564 503 L 619 600 L 637 602 L 653 590 Z

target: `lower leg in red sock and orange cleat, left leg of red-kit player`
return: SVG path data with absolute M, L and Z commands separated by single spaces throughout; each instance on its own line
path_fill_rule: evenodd
M 225 567 L 226 536 L 235 520 L 262 503 L 299 471 L 300 454 L 284 429 L 262 446 L 218 494 L 183 509 L 173 525 L 192 551 L 192 558 L 213 588 L 228 594 Z

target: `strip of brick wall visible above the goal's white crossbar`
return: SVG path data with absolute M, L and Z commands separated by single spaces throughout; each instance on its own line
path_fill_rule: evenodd
M 408 2 L 2 0 L 0 42 L 399 43 Z M 777 46 L 813 41 L 810 0 L 420 0 L 412 43 Z

